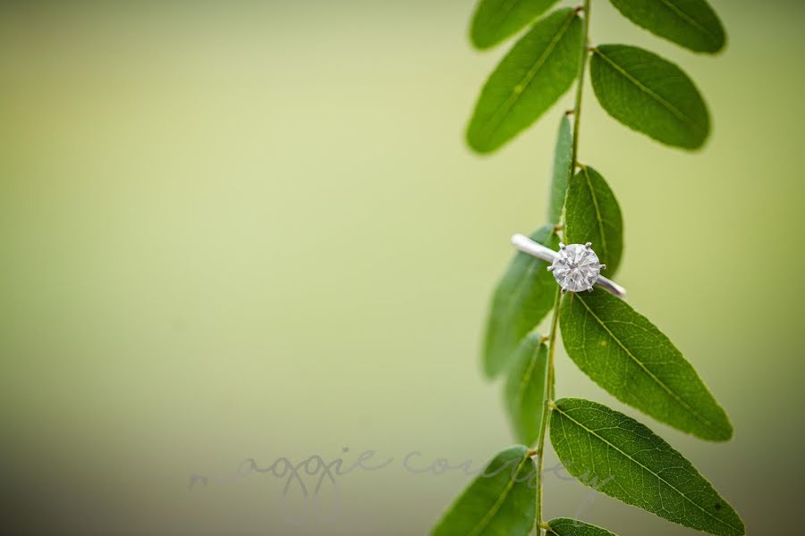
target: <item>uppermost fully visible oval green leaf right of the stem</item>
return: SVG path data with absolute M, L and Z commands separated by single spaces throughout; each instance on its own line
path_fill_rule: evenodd
M 686 149 L 708 138 L 708 108 L 674 63 L 636 46 L 601 45 L 589 69 L 598 102 L 627 127 Z

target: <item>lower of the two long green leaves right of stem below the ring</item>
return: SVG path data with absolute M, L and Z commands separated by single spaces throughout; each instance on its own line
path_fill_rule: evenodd
M 551 443 L 585 485 L 665 517 L 723 536 L 743 522 L 691 462 L 631 417 L 596 402 L 563 398 L 551 412 Z

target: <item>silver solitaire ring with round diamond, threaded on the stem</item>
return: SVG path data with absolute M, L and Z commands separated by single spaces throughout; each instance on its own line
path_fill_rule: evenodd
M 592 250 L 590 242 L 569 246 L 559 244 L 559 251 L 554 251 L 527 236 L 516 234 L 512 237 L 512 244 L 523 253 L 551 263 L 548 270 L 554 273 L 554 279 L 562 287 L 563 293 L 592 292 L 593 285 L 598 285 L 617 297 L 626 296 L 626 289 L 601 275 L 606 265 L 598 262 L 598 255 Z

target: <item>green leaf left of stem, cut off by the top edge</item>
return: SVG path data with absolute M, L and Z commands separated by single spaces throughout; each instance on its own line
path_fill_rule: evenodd
M 553 4 L 556 0 L 480 0 L 472 16 L 472 45 L 480 49 L 496 46 Z

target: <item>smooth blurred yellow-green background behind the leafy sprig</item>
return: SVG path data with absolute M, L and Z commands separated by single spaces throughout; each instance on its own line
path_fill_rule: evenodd
M 593 6 L 594 43 L 646 46 L 708 98 L 698 154 L 610 120 L 581 160 L 623 207 L 619 281 L 735 426 L 710 444 L 558 361 L 557 391 L 661 433 L 741 512 L 792 534 L 803 493 L 805 6 L 714 0 L 730 42 L 690 54 Z M 545 218 L 565 97 L 479 158 L 462 130 L 505 46 L 470 2 L 4 3 L 0 8 L 0 512 L 16 532 L 419 534 L 512 443 L 483 381 L 487 300 Z M 349 448 L 344 452 L 344 448 Z M 361 451 L 313 515 L 232 473 Z M 549 456 L 548 464 L 555 463 Z M 317 477 L 305 477 L 316 482 Z M 285 479 L 286 480 L 286 479 Z M 547 477 L 547 515 L 692 533 Z M 331 487 L 322 492 L 332 513 Z M 306 506 L 307 505 L 307 506 Z

